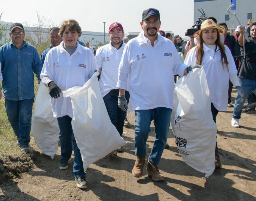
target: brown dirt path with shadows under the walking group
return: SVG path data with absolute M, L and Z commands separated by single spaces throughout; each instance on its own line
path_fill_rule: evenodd
M 35 166 L 31 171 L 0 183 L 0 200 L 256 200 L 256 112 L 242 114 L 242 127 L 237 129 L 231 127 L 232 111 L 233 108 L 229 108 L 217 116 L 222 168 L 207 179 L 183 162 L 171 129 L 167 140 L 170 149 L 164 150 L 159 165 L 165 180 L 153 182 L 146 174 L 146 165 L 141 178 L 133 177 L 135 127 L 132 126 L 124 129 L 127 145 L 123 153 L 89 166 L 86 190 L 76 187 L 73 160 L 67 170 L 59 170 L 60 151 L 53 160 L 34 152 L 31 158 Z M 129 114 L 128 119 L 134 125 L 134 113 Z M 151 126 L 147 153 L 154 140 L 154 126 Z

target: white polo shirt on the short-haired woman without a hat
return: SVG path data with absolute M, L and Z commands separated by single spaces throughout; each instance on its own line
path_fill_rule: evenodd
M 41 78 L 46 76 L 53 80 L 61 91 L 74 86 L 83 86 L 89 80 L 97 64 L 92 51 L 77 43 L 75 52 L 70 56 L 63 48 L 64 41 L 57 47 L 52 48 L 46 55 L 41 71 Z M 70 98 L 51 98 L 54 117 L 65 115 L 73 117 Z

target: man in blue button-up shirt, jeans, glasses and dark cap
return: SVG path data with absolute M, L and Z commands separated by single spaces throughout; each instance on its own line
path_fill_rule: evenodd
M 42 62 L 35 47 L 24 41 L 22 24 L 12 24 L 9 34 L 12 41 L 0 47 L 5 109 L 20 150 L 27 153 L 35 97 L 33 72 L 40 78 Z

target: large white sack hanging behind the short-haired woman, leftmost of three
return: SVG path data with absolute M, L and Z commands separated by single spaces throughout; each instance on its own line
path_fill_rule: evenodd
M 42 82 L 36 95 L 31 132 L 39 149 L 53 159 L 58 151 L 60 130 L 57 118 L 53 117 L 48 88 Z

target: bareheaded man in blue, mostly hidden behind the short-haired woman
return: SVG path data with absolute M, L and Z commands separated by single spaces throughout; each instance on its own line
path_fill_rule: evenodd
M 50 47 L 48 49 L 44 50 L 43 53 L 41 54 L 40 59 L 41 59 L 42 64 L 44 64 L 44 59 L 45 59 L 48 51 L 51 48 L 60 45 L 60 43 L 62 42 L 62 38 L 60 37 L 59 32 L 60 32 L 59 27 L 53 27 L 50 29 L 50 39 L 51 39 L 52 44 L 50 45 Z

